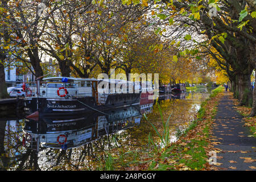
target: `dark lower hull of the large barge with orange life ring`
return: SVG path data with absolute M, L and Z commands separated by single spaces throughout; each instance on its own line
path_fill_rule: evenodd
M 96 110 L 106 110 L 111 107 L 131 106 L 139 104 L 140 93 L 109 95 L 105 105 L 97 105 L 94 97 L 82 98 L 24 98 L 24 111 L 32 114 L 39 111 L 40 117 L 52 117 L 55 115 L 84 114 Z

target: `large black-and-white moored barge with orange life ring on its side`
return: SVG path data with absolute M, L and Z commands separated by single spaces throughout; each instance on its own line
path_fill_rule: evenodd
M 83 114 L 138 105 L 141 98 L 134 82 L 110 79 L 48 77 L 43 78 L 43 82 L 36 82 L 36 86 L 23 89 L 28 93 L 24 98 L 24 110 L 32 114 L 31 117 Z

